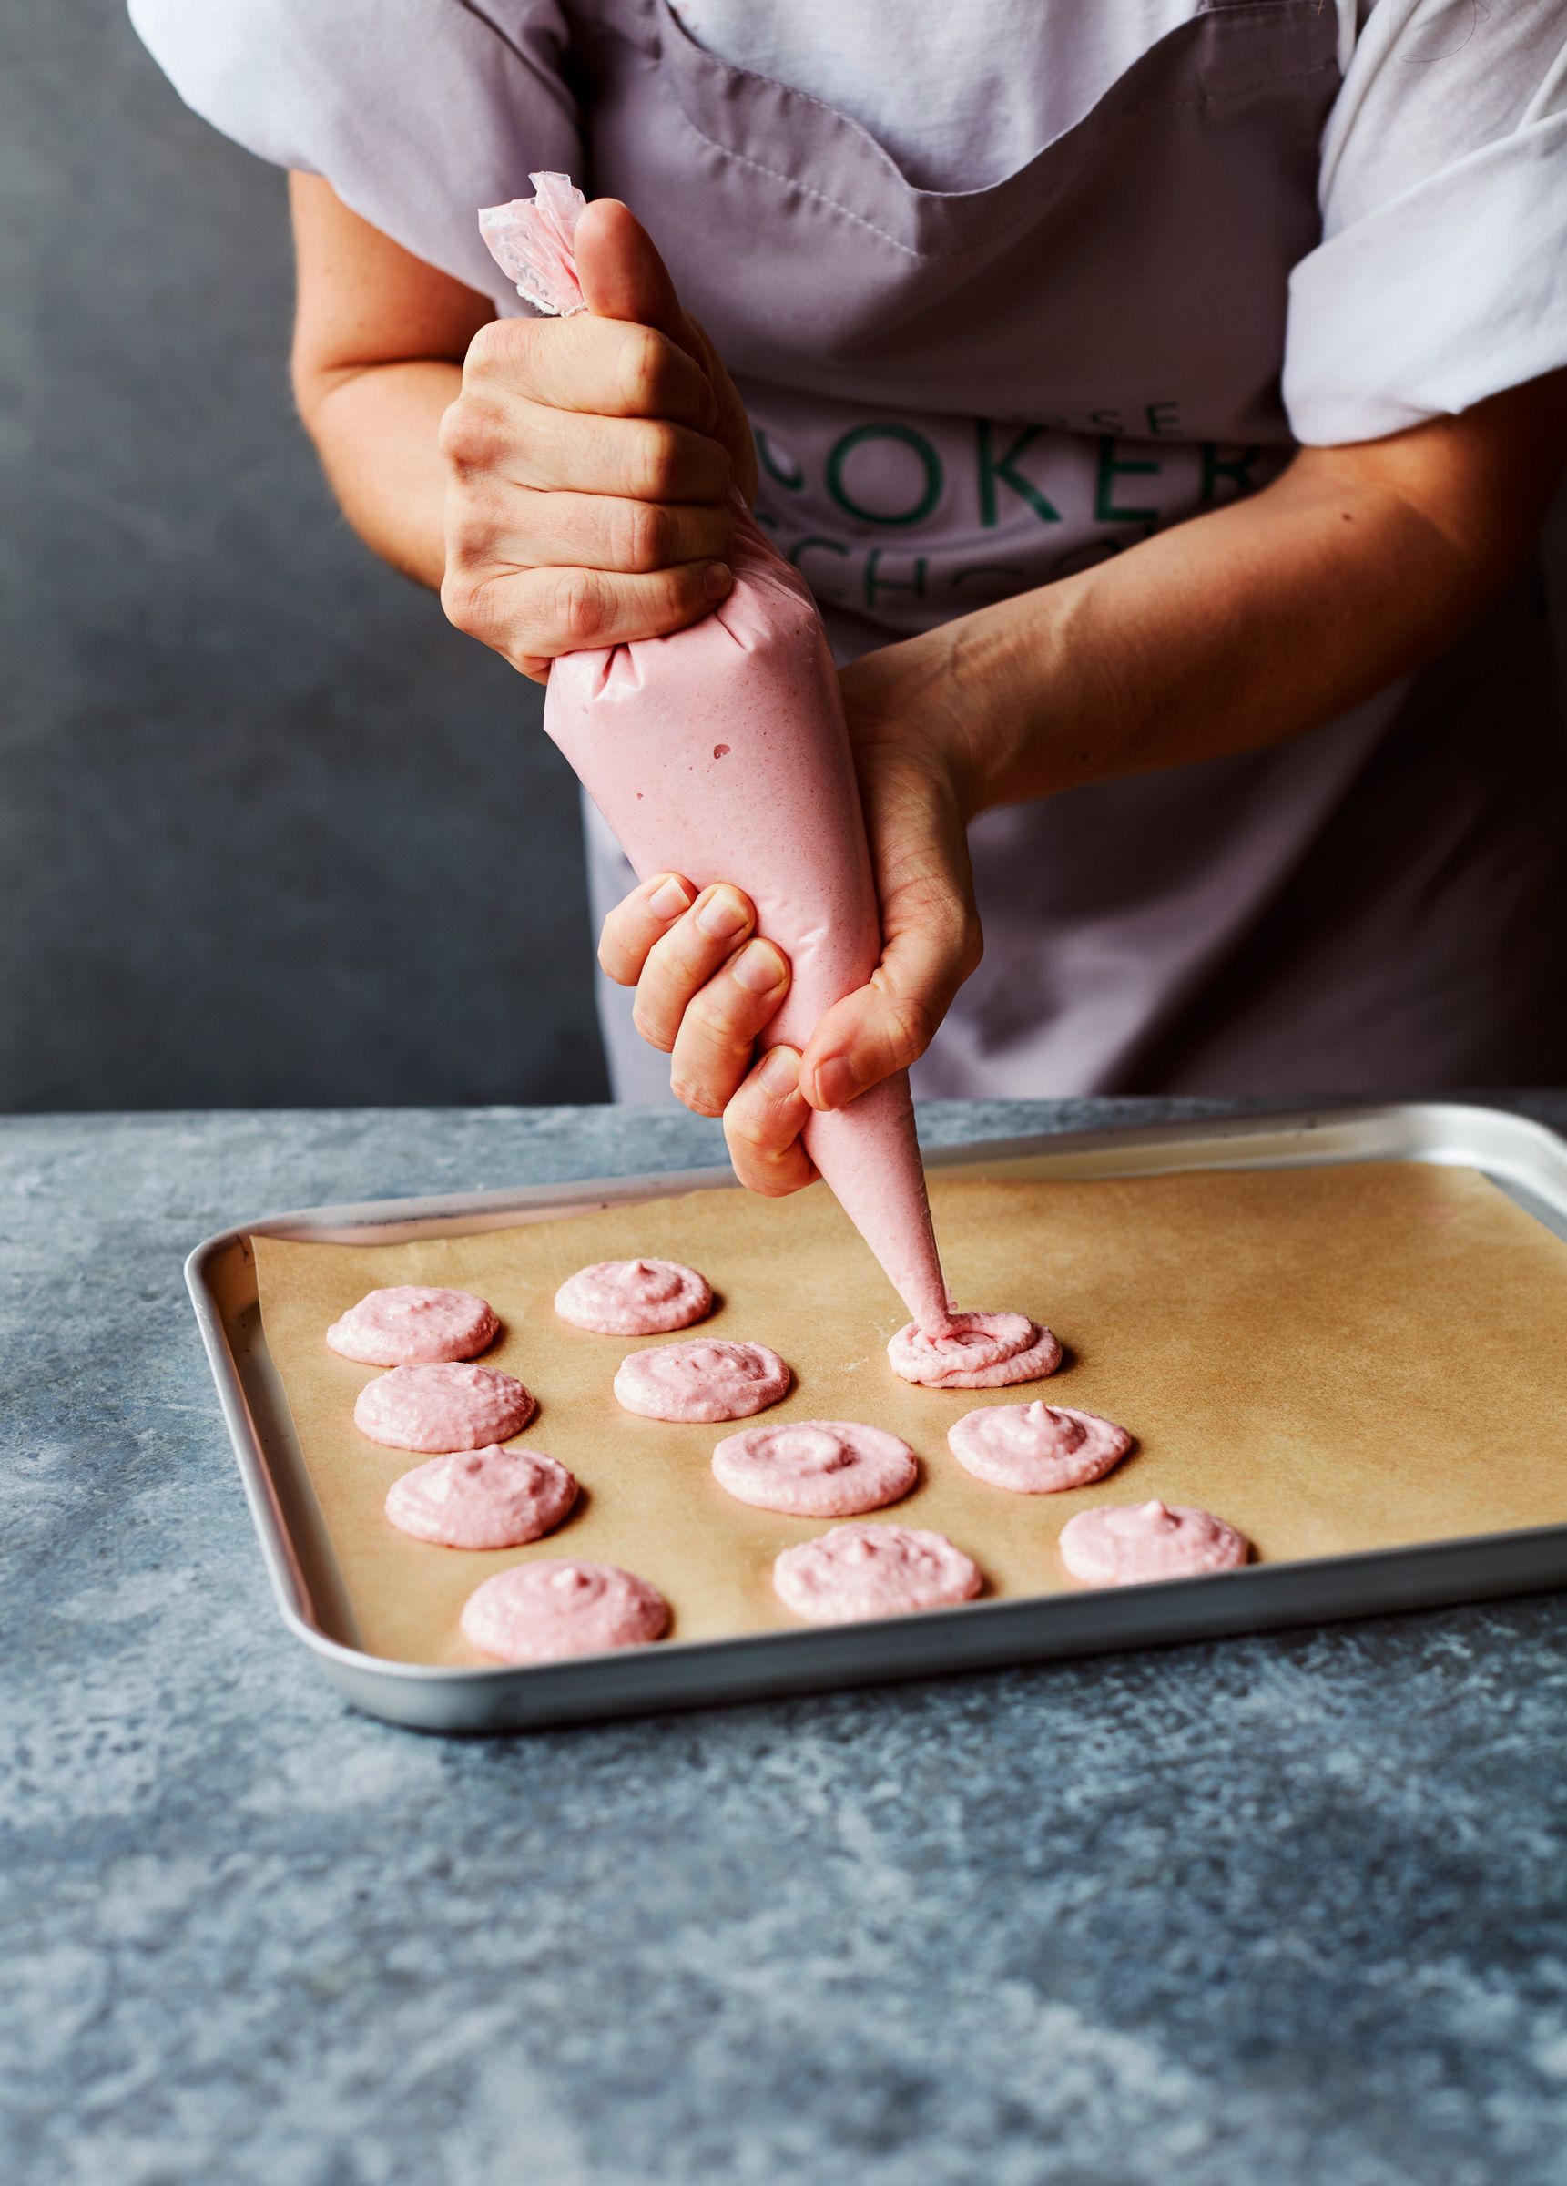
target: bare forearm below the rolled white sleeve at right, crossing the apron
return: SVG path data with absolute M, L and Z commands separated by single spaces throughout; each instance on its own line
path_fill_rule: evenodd
M 953 625 L 942 680 L 973 811 L 1281 743 L 1438 654 L 1508 579 L 1554 481 L 1543 448 L 1517 485 L 1491 470 L 1469 494 L 1462 426 L 1429 428 L 1414 492 L 1397 444 L 1307 450 L 1252 501 Z

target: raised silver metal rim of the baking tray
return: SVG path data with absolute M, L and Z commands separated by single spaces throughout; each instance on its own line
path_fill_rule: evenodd
M 1340 1150 L 1340 1141 L 1355 1132 L 1377 1132 L 1379 1128 L 1388 1141 L 1397 1143 L 1377 1143 L 1353 1154 Z M 1482 1154 L 1466 1148 L 1464 1139 L 1495 1143 L 1486 1145 Z M 1191 1156 L 1200 1145 L 1250 1145 L 1257 1156 L 1250 1165 L 1279 1165 L 1265 1159 L 1263 1150 L 1279 1154 L 1289 1141 L 1294 1141 L 1296 1154 L 1289 1165 L 1418 1156 L 1473 1161 L 1488 1174 L 1512 1176 L 1530 1194 L 1539 1194 L 1558 1215 L 1567 1215 L 1567 1141 L 1547 1126 L 1512 1110 L 1456 1102 L 1403 1102 L 1034 1132 L 935 1148 L 927 1156 L 927 1165 L 949 1170 L 1045 1154 L 1060 1156 L 1062 1167 L 1069 1167 L 1073 1156 L 1130 1156 L 1150 1148 L 1169 1148 Z M 1213 1163 L 1187 1159 L 1176 1165 Z M 1412 1543 L 1397 1550 L 1250 1565 L 1244 1572 L 1165 1580 L 1108 1596 L 1069 1594 L 975 1602 L 964 1609 L 889 1620 L 881 1626 L 806 1626 L 782 1633 L 743 1633 L 732 1640 L 675 1640 L 656 1650 L 590 1655 L 533 1668 L 389 1661 L 321 1631 L 308 1611 L 308 1594 L 278 1502 L 267 1449 L 251 1417 L 216 1294 L 208 1283 L 212 1259 L 258 1233 L 321 1239 L 328 1231 L 352 1229 L 363 1237 L 365 1229 L 396 1231 L 404 1224 L 426 1229 L 474 1215 L 496 1218 L 496 1226 L 500 1226 L 507 1215 L 540 1215 L 553 1207 L 581 1207 L 594 1200 L 616 1204 L 723 1187 L 739 1189 L 728 1167 L 697 1167 L 581 1183 L 345 1202 L 232 1224 L 192 1248 L 186 1259 L 186 1285 L 280 1618 L 310 1648 L 330 1681 L 356 1705 L 420 1729 L 540 1727 L 597 1714 L 702 1705 L 710 1699 L 822 1690 L 889 1677 L 929 1677 L 942 1674 L 942 1670 L 1021 1664 L 1049 1655 L 1195 1640 L 1220 1631 L 1259 1631 L 1270 1622 L 1375 1613 L 1375 1607 L 1421 1607 L 1421 1602 L 1456 1600 L 1473 1591 L 1464 1578 L 1466 1572 L 1473 1572 L 1473 1578 L 1488 1594 L 1528 1591 L 1567 1580 L 1567 1526 L 1543 1526 Z M 490 1222 L 485 1220 L 483 1226 Z M 1517 1570 L 1508 1574 L 1495 1567 L 1482 1576 L 1480 1565 L 1495 1565 L 1501 1550 L 1515 1559 Z M 1305 1585 L 1300 1583 L 1303 1574 L 1309 1574 Z M 1368 1594 L 1377 1591 L 1375 1580 L 1392 1580 L 1394 1576 L 1399 1583 L 1390 1591 L 1397 1600 L 1366 1607 Z M 1222 1605 L 1228 1609 L 1217 1613 Z M 905 1644 L 889 1646 L 887 1635 L 898 1635 Z M 999 1653 L 1003 1635 L 1014 1635 L 1018 1646 Z M 914 1644 L 909 1646 L 909 1642 Z M 798 1668 L 796 1677 L 787 1674 L 791 1661 Z M 704 1672 L 710 1672 L 706 1683 Z M 446 1707 L 426 1705 L 441 1696 Z

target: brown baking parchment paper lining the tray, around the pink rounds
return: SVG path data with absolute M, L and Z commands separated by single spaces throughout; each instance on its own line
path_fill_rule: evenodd
M 935 1526 L 986 1572 L 988 1598 L 1073 1583 L 1056 1537 L 1093 1502 L 1193 1502 L 1265 1561 L 1567 1521 L 1567 1244 L 1471 1170 L 1366 1163 L 1032 1183 L 931 1176 L 944 1266 L 966 1305 L 1027 1312 L 1067 1347 L 1049 1382 L 938 1392 L 898 1382 L 900 1309 L 835 1200 L 695 1191 L 509 1231 L 391 1246 L 256 1237 L 262 1327 L 356 1620 L 374 1655 L 472 1664 L 468 1594 L 529 1556 L 623 1563 L 658 1585 L 671 1637 L 791 1626 L 769 1567 L 820 1519 L 750 1511 L 710 1473 L 732 1427 L 634 1419 L 610 1392 L 638 1342 L 586 1336 L 555 1288 L 594 1259 L 691 1261 L 719 1294 L 699 1329 L 780 1351 L 782 1419 L 863 1419 L 903 1434 L 920 1484 L 876 1517 Z M 485 1364 L 540 1399 L 518 1441 L 581 1482 L 573 1517 L 520 1550 L 463 1552 L 396 1532 L 391 1480 L 424 1462 L 367 1443 L 354 1397 L 374 1368 L 326 1327 L 380 1283 L 490 1298 Z M 973 1480 L 946 1427 L 979 1403 L 1045 1397 L 1136 1434 L 1091 1489 L 1010 1495 Z

